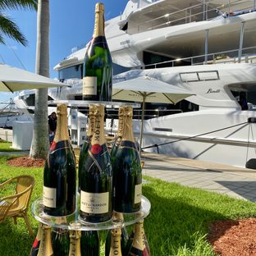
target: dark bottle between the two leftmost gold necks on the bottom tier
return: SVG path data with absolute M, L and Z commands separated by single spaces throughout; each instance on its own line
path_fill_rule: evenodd
M 57 217 L 55 223 L 66 225 L 66 217 Z M 58 226 L 53 227 L 52 245 L 54 256 L 67 256 L 70 246 L 68 230 Z

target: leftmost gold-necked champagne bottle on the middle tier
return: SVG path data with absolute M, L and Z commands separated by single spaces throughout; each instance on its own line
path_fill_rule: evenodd
M 56 135 L 43 171 L 43 212 L 52 216 L 75 212 L 75 156 L 66 115 L 66 105 L 58 105 Z

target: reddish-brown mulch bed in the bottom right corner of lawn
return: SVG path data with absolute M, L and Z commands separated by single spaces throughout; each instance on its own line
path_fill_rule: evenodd
M 214 222 L 208 240 L 222 256 L 256 255 L 256 218 Z

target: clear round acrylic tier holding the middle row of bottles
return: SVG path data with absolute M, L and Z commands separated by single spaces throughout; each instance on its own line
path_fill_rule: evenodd
M 139 212 L 136 213 L 122 213 L 124 217 L 123 222 L 118 222 L 116 220 L 110 220 L 108 222 L 102 222 L 102 223 L 91 223 L 91 222 L 83 222 L 80 220 L 79 212 L 75 211 L 75 213 L 66 216 L 66 224 L 57 224 L 58 218 L 60 217 L 52 217 L 47 215 L 46 213 L 43 213 L 43 200 L 37 199 L 32 203 L 32 214 L 36 220 L 38 220 L 41 223 L 44 223 L 48 226 L 57 227 L 60 229 L 67 229 L 71 230 L 74 229 L 71 228 L 72 222 L 80 222 L 80 227 L 78 228 L 81 231 L 103 231 L 103 230 L 110 230 L 117 227 L 122 226 L 129 226 L 134 224 L 135 222 L 139 222 L 140 220 L 144 219 L 149 215 L 149 211 L 151 208 L 151 204 L 147 198 L 142 196 L 141 198 L 141 208 Z

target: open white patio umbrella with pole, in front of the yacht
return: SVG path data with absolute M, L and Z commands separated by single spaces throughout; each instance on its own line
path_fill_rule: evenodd
M 176 104 L 191 94 L 185 89 L 167 84 L 149 75 L 139 76 L 135 79 L 125 80 L 113 85 L 112 99 L 134 101 L 142 103 L 142 117 L 139 138 L 139 153 L 143 136 L 143 121 L 145 103 L 171 103 Z

